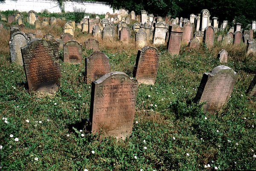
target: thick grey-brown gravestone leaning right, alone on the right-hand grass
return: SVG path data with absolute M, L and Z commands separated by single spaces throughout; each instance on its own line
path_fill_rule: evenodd
M 214 113 L 228 101 L 235 84 L 236 72 L 224 65 L 215 67 L 204 73 L 193 101 L 206 101 L 204 112 Z

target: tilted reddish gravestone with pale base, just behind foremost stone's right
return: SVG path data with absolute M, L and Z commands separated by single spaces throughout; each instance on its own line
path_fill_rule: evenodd
M 153 46 L 145 46 L 138 50 L 134 77 L 139 83 L 154 84 L 157 77 L 160 53 Z

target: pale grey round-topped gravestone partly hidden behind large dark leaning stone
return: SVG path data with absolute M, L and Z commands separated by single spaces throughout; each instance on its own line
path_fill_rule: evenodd
M 20 48 L 25 46 L 28 42 L 29 42 L 29 38 L 26 37 L 25 33 L 15 32 L 12 34 L 9 41 L 12 63 L 16 63 L 21 66 L 23 65 Z

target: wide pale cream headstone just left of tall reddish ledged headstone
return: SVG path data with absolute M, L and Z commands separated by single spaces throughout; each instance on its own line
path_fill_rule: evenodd
M 168 29 L 168 24 L 164 24 L 162 22 L 155 23 L 153 44 L 165 43 L 167 29 Z

